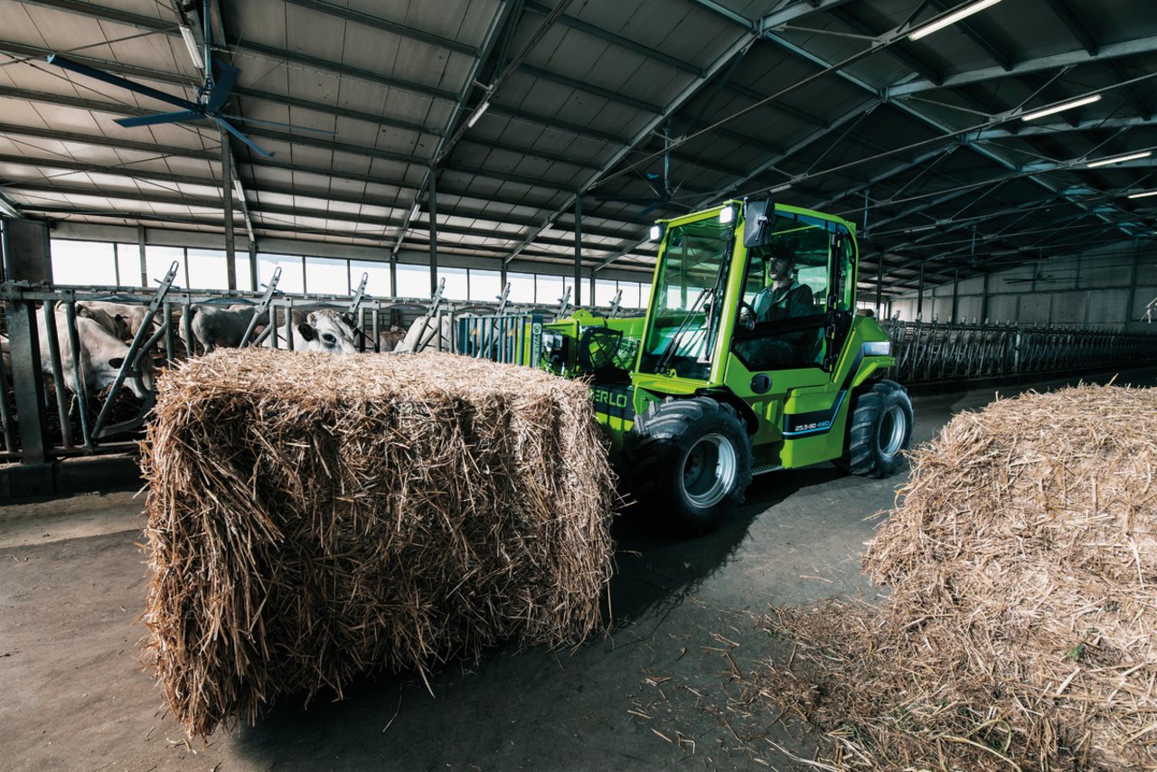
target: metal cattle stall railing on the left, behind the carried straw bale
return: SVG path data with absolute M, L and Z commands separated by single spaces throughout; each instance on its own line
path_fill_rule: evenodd
M 152 384 L 145 382 L 140 368 L 172 367 L 182 359 L 204 353 L 192 319 L 194 311 L 205 306 L 245 307 L 249 324 L 243 325 L 243 332 L 249 334 L 249 343 L 281 348 L 293 340 L 286 332 L 295 325 L 295 318 L 300 319 L 310 309 L 331 308 L 353 321 L 356 347 L 363 352 L 393 352 L 405 344 L 407 331 L 415 334 L 412 345 L 403 346 L 401 351 L 457 351 L 458 319 L 467 315 L 493 315 L 501 307 L 500 302 L 442 300 L 433 303 L 433 299 L 290 295 L 282 294 L 277 285 L 277 279 L 271 278 L 263 292 L 223 292 L 180 288 L 172 285 L 171 278 L 162 281 L 156 291 L 0 284 L 0 301 L 3 301 L 0 328 L 8 334 L 7 338 L 0 336 L 0 343 L 5 344 L 5 365 L 0 368 L 3 441 L 0 462 L 38 464 L 74 456 L 135 451 L 140 427 L 154 397 Z M 78 322 L 84 315 L 79 309 L 86 303 L 108 302 L 138 309 L 142 317 L 156 303 L 149 324 L 139 325 L 134 334 L 121 339 L 124 353 L 132 347 L 135 351 L 132 356 L 125 356 L 113 373 L 113 381 L 119 383 L 110 383 L 111 389 L 96 388 L 87 374 L 78 372 L 84 356 L 72 356 L 74 350 L 80 353 L 83 344 L 81 329 L 90 326 Z M 519 308 L 508 306 L 507 310 L 518 313 Z M 536 308 L 533 313 L 550 319 L 558 311 Z M 40 331 L 47 332 L 49 328 L 60 332 L 45 336 L 46 353 L 42 361 Z M 72 375 L 66 370 L 72 370 Z M 57 389 L 58 383 L 65 382 L 75 383 L 75 392 Z M 134 389 L 143 395 L 142 399 L 137 398 Z

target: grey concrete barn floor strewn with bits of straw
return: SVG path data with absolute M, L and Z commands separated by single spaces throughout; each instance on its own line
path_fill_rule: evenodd
M 1119 382 L 1155 385 L 1157 370 Z M 918 397 L 915 441 L 993 392 Z M 810 757 L 811 738 L 736 675 L 779 655 L 758 624 L 769 604 L 883 591 L 860 556 L 904 480 L 828 465 L 764 476 L 732 523 L 688 542 L 622 520 L 613 626 L 577 649 L 498 648 L 435 671 L 433 694 L 414 674 L 367 676 L 341 701 L 287 699 L 207 744 L 185 741 L 138 663 L 141 500 L 0 508 L 0 767 L 790 769 L 781 748 Z

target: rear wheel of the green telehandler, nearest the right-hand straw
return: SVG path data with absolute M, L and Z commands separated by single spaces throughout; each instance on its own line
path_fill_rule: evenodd
M 863 477 L 891 477 L 912 442 L 912 399 L 894 381 L 876 381 L 856 397 L 847 451 L 839 465 Z

